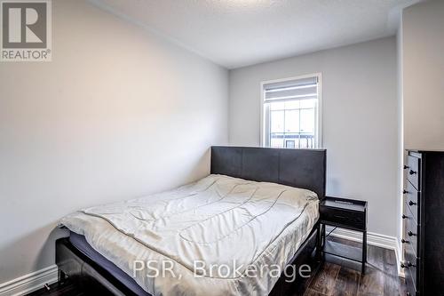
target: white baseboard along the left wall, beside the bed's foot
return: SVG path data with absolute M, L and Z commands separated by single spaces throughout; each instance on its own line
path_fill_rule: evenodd
M 0 296 L 22 296 L 44 287 L 44 284 L 53 284 L 58 280 L 58 268 L 52 265 L 37 270 L 26 276 L 0 284 Z

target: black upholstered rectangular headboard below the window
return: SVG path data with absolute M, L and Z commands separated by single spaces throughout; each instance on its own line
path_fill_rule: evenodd
M 325 149 L 211 147 L 211 173 L 274 182 L 325 197 Z

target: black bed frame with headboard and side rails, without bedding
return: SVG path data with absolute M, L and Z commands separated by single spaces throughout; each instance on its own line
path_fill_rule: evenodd
M 323 199 L 326 184 L 326 150 L 212 147 L 210 172 L 245 180 L 268 181 L 306 188 Z M 319 244 L 319 223 L 316 223 L 308 238 L 289 261 L 287 268 L 299 268 L 308 264 L 312 267 L 313 275 L 321 260 Z M 135 295 L 106 269 L 77 250 L 68 238 L 56 241 L 56 264 L 59 268 L 60 282 L 69 277 L 71 281 L 92 294 Z M 304 282 L 306 281 L 298 277 L 295 283 L 289 283 L 282 273 L 270 295 L 288 295 L 289 289 L 293 294 L 295 294 L 294 289 L 302 292 L 305 287 Z

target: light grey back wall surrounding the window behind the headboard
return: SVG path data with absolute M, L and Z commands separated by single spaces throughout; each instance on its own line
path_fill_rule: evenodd
M 369 231 L 399 232 L 396 39 L 389 37 L 230 71 L 229 140 L 260 145 L 260 82 L 322 73 L 327 193 L 369 201 Z

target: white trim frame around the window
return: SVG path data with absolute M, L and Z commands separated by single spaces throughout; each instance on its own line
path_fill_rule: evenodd
M 260 146 L 261 147 L 268 147 L 266 146 L 266 124 L 265 124 L 265 112 L 266 109 L 264 108 L 264 100 L 265 100 L 265 85 L 266 84 L 274 84 L 274 83 L 281 83 L 281 82 L 287 82 L 291 80 L 298 80 L 298 79 L 304 79 L 304 78 L 310 78 L 310 77 L 318 77 L 318 108 L 317 108 L 317 130 L 315 131 L 315 134 L 317 136 L 317 147 L 315 148 L 322 148 L 322 74 L 320 73 L 313 73 L 313 74 L 307 74 L 302 76 L 294 76 L 289 78 L 281 78 L 281 79 L 274 79 L 274 80 L 267 80 L 260 83 Z

